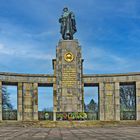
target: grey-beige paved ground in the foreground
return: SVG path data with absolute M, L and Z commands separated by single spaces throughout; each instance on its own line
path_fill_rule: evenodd
M 0 127 L 0 140 L 140 140 L 140 127 Z

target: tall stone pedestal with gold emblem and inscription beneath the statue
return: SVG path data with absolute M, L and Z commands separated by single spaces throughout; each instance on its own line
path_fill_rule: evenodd
M 82 58 L 77 40 L 60 40 L 56 49 L 56 111 L 82 112 Z

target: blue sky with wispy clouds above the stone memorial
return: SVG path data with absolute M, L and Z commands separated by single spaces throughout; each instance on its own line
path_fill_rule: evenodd
M 65 6 L 76 16 L 84 74 L 140 72 L 139 0 L 1 0 L 0 72 L 53 74 Z

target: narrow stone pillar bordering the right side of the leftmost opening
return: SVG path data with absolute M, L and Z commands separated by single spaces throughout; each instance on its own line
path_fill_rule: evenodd
M 22 83 L 18 83 L 17 87 L 18 92 L 18 109 L 17 109 L 17 120 L 22 121 L 22 115 L 23 115 L 23 87 Z

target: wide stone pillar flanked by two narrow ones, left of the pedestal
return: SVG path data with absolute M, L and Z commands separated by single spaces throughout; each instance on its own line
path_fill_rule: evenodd
M 33 120 L 33 86 L 32 83 L 23 83 L 23 120 Z

